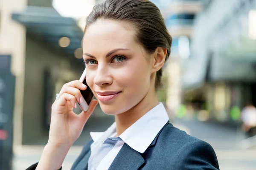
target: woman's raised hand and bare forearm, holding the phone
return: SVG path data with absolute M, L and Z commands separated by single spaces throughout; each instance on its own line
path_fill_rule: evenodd
M 79 115 L 73 112 L 76 102 L 81 102 L 80 90 L 87 87 L 78 80 L 63 85 L 61 96 L 52 105 L 49 140 L 44 147 L 36 170 L 58 170 L 61 168 L 68 150 L 79 138 L 85 123 L 93 113 L 97 100 L 92 100 L 89 109 Z

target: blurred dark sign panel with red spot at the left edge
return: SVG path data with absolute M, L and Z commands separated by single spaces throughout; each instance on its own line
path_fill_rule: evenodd
M 15 79 L 10 67 L 11 56 L 0 55 L 0 170 L 12 169 Z

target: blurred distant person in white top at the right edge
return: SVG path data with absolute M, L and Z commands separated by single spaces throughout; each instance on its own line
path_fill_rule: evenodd
M 247 137 L 256 135 L 256 108 L 252 104 L 246 105 L 241 111 L 242 130 Z

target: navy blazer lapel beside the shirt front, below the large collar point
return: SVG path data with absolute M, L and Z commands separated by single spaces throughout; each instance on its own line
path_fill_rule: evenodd
M 144 162 L 141 154 L 125 143 L 108 170 L 137 170 Z

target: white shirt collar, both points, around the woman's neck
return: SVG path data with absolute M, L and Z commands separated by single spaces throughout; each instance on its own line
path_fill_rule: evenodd
M 153 109 L 143 115 L 137 122 L 128 127 L 119 137 L 137 152 L 144 153 L 164 125 L 169 121 L 163 103 L 159 103 Z M 107 137 L 116 132 L 116 123 L 113 123 L 104 132 L 91 132 L 94 142 L 104 142 Z

